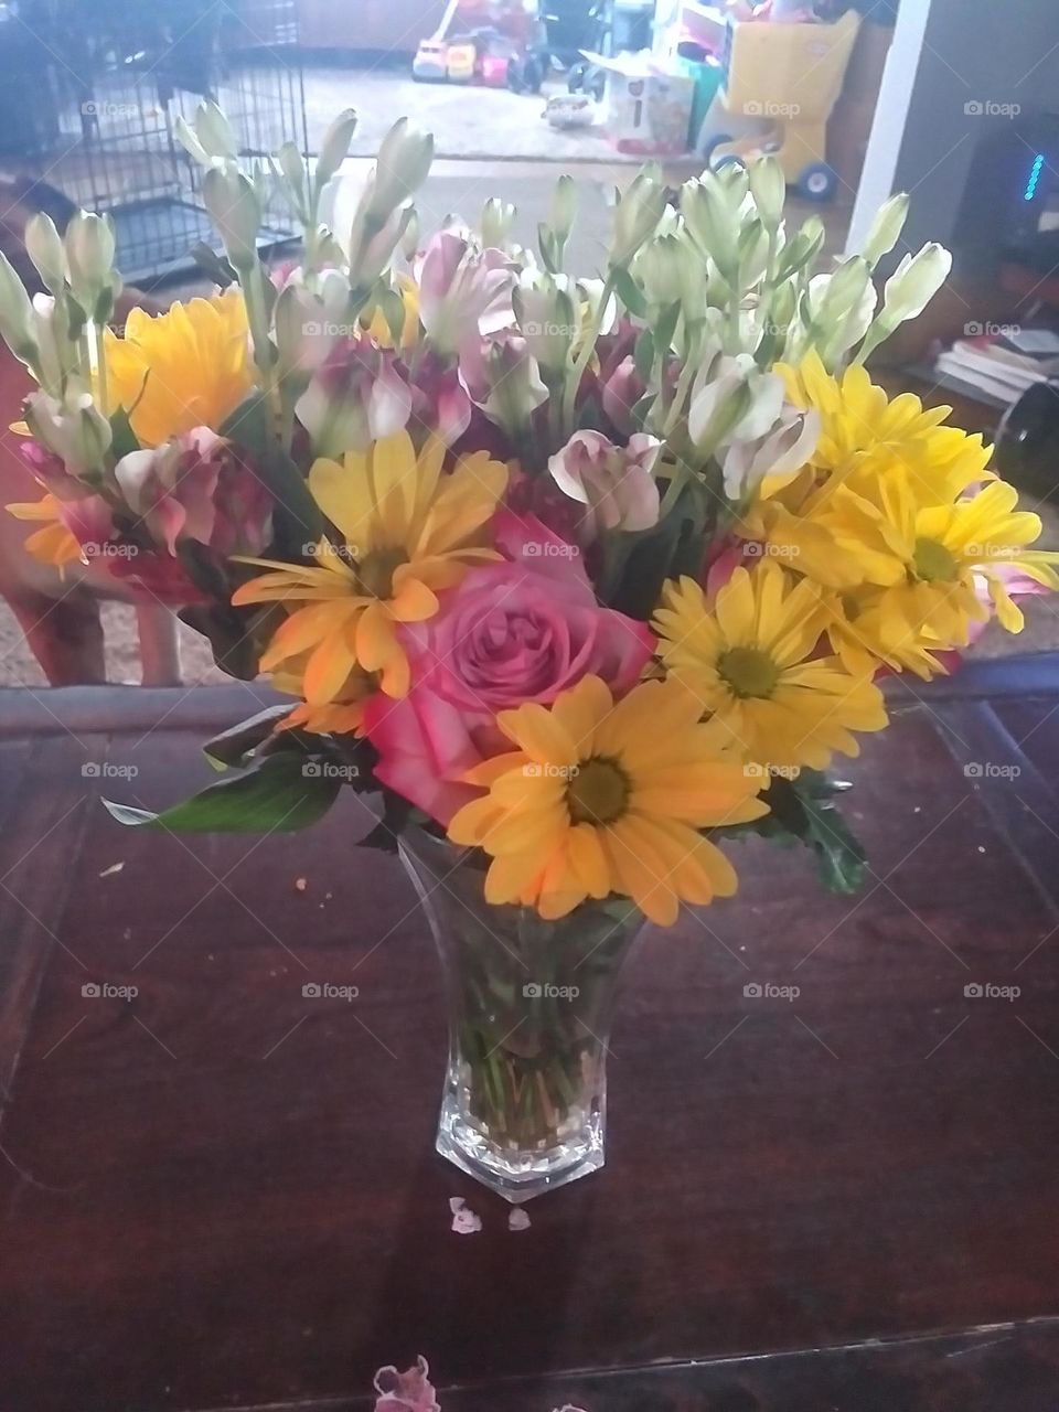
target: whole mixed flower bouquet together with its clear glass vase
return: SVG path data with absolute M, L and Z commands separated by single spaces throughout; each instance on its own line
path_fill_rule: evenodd
M 291 698 L 206 747 L 225 778 L 119 820 L 270 832 L 343 788 L 381 801 L 364 842 L 401 837 L 446 938 L 442 1148 L 522 1199 L 602 1161 L 642 918 L 730 897 L 747 832 L 856 888 L 826 768 L 885 727 L 877 679 L 947 671 L 993 616 L 1018 631 L 1056 555 L 980 436 L 866 371 L 950 267 L 926 246 L 877 289 L 905 198 L 819 271 L 774 160 L 676 192 L 647 168 L 585 277 L 568 176 L 537 250 L 496 198 L 421 236 L 432 141 L 404 119 L 330 230 L 354 123 L 315 164 L 243 169 L 203 104 L 181 137 L 217 292 L 124 329 L 109 220 L 31 222 L 49 292 L 0 264 L 0 332 L 40 383 L 41 498 L 8 508 L 32 554 L 104 563 Z M 282 273 L 257 244 L 277 191 L 304 227 Z

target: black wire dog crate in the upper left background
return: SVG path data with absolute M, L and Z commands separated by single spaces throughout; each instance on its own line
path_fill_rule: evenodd
M 196 243 L 220 249 L 176 117 L 191 120 L 209 97 L 243 155 L 284 141 L 305 152 L 297 41 L 295 0 L 0 4 L 0 168 L 113 216 L 117 268 L 130 284 L 157 284 L 192 265 Z M 260 246 L 294 237 L 289 212 L 270 199 Z

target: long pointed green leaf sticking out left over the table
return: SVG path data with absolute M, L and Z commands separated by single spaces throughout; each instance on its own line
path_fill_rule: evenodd
M 301 755 L 265 757 L 246 774 L 230 775 L 184 803 L 154 813 L 103 803 L 119 823 L 171 833 L 289 833 L 330 809 L 342 781 Z

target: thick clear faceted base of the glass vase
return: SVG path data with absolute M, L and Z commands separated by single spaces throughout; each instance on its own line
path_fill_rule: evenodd
M 570 1139 L 539 1154 L 505 1154 L 448 1104 L 438 1125 L 438 1152 L 513 1206 L 597 1172 L 604 1162 L 603 1123 L 593 1115 Z

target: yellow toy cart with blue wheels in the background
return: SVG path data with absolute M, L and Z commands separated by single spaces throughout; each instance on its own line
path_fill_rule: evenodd
M 810 201 L 829 201 L 839 178 L 826 161 L 827 119 L 858 25 L 853 10 L 834 24 L 729 20 L 712 126 L 723 127 L 729 114 L 743 133 L 717 133 L 706 150 L 710 165 L 771 152 L 789 186 Z

